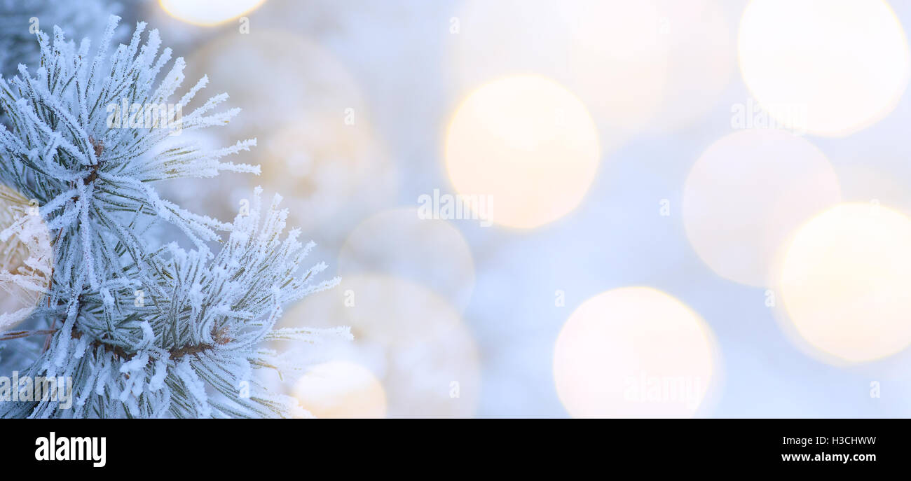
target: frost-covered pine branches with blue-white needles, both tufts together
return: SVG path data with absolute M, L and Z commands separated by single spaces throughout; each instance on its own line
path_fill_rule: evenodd
M 270 393 L 254 373 L 294 366 L 263 343 L 349 336 L 343 328 L 272 329 L 281 306 L 338 280 L 314 280 L 326 266 L 303 264 L 313 244 L 299 241 L 297 230 L 283 234 L 287 212 L 277 195 L 263 206 L 256 189 L 249 212 L 231 223 L 159 196 L 153 185 L 160 180 L 258 174 L 258 166 L 223 160 L 256 141 L 207 150 L 163 128 L 226 124 L 238 109 L 217 108 L 225 94 L 182 118 L 171 110 L 162 125 L 108 128 L 108 106 L 183 108 L 207 83 L 203 77 L 176 97 L 184 61 L 171 62 L 169 48 L 159 52 L 156 30 L 142 42 L 143 23 L 110 53 L 118 20 L 111 17 L 94 56 L 88 40 L 77 46 L 59 28 L 53 40 L 39 34 L 40 65 L 0 78 L 0 182 L 36 200 L 55 259 L 46 295 L 26 320 L 30 329 L 0 333 L 0 375 L 68 376 L 74 385 L 68 409 L 56 399 L 2 402 L 0 416 L 291 415 L 296 403 Z M 161 222 L 194 248 L 150 241 L 148 229 Z M 0 241 L 22 237 L 28 225 L 34 222 L 14 223 Z

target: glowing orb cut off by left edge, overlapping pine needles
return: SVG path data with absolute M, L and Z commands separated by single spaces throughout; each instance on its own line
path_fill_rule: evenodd
M 50 286 L 54 251 L 39 207 L 0 184 L 0 332 L 26 319 Z

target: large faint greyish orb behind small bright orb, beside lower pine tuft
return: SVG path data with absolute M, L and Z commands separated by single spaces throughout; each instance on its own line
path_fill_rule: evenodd
M 353 343 L 331 344 L 331 358 L 354 356 L 386 393 L 389 417 L 470 417 L 480 390 L 472 334 L 455 308 L 415 282 L 383 274 L 350 274 L 307 296 L 281 327 L 347 325 Z

